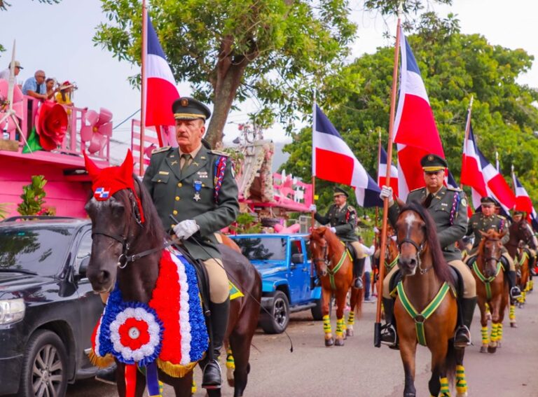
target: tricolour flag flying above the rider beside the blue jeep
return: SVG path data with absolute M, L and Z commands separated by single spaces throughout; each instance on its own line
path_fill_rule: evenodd
M 382 207 L 381 192 L 317 104 L 312 129 L 312 175 L 352 186 L 361 207 Z

